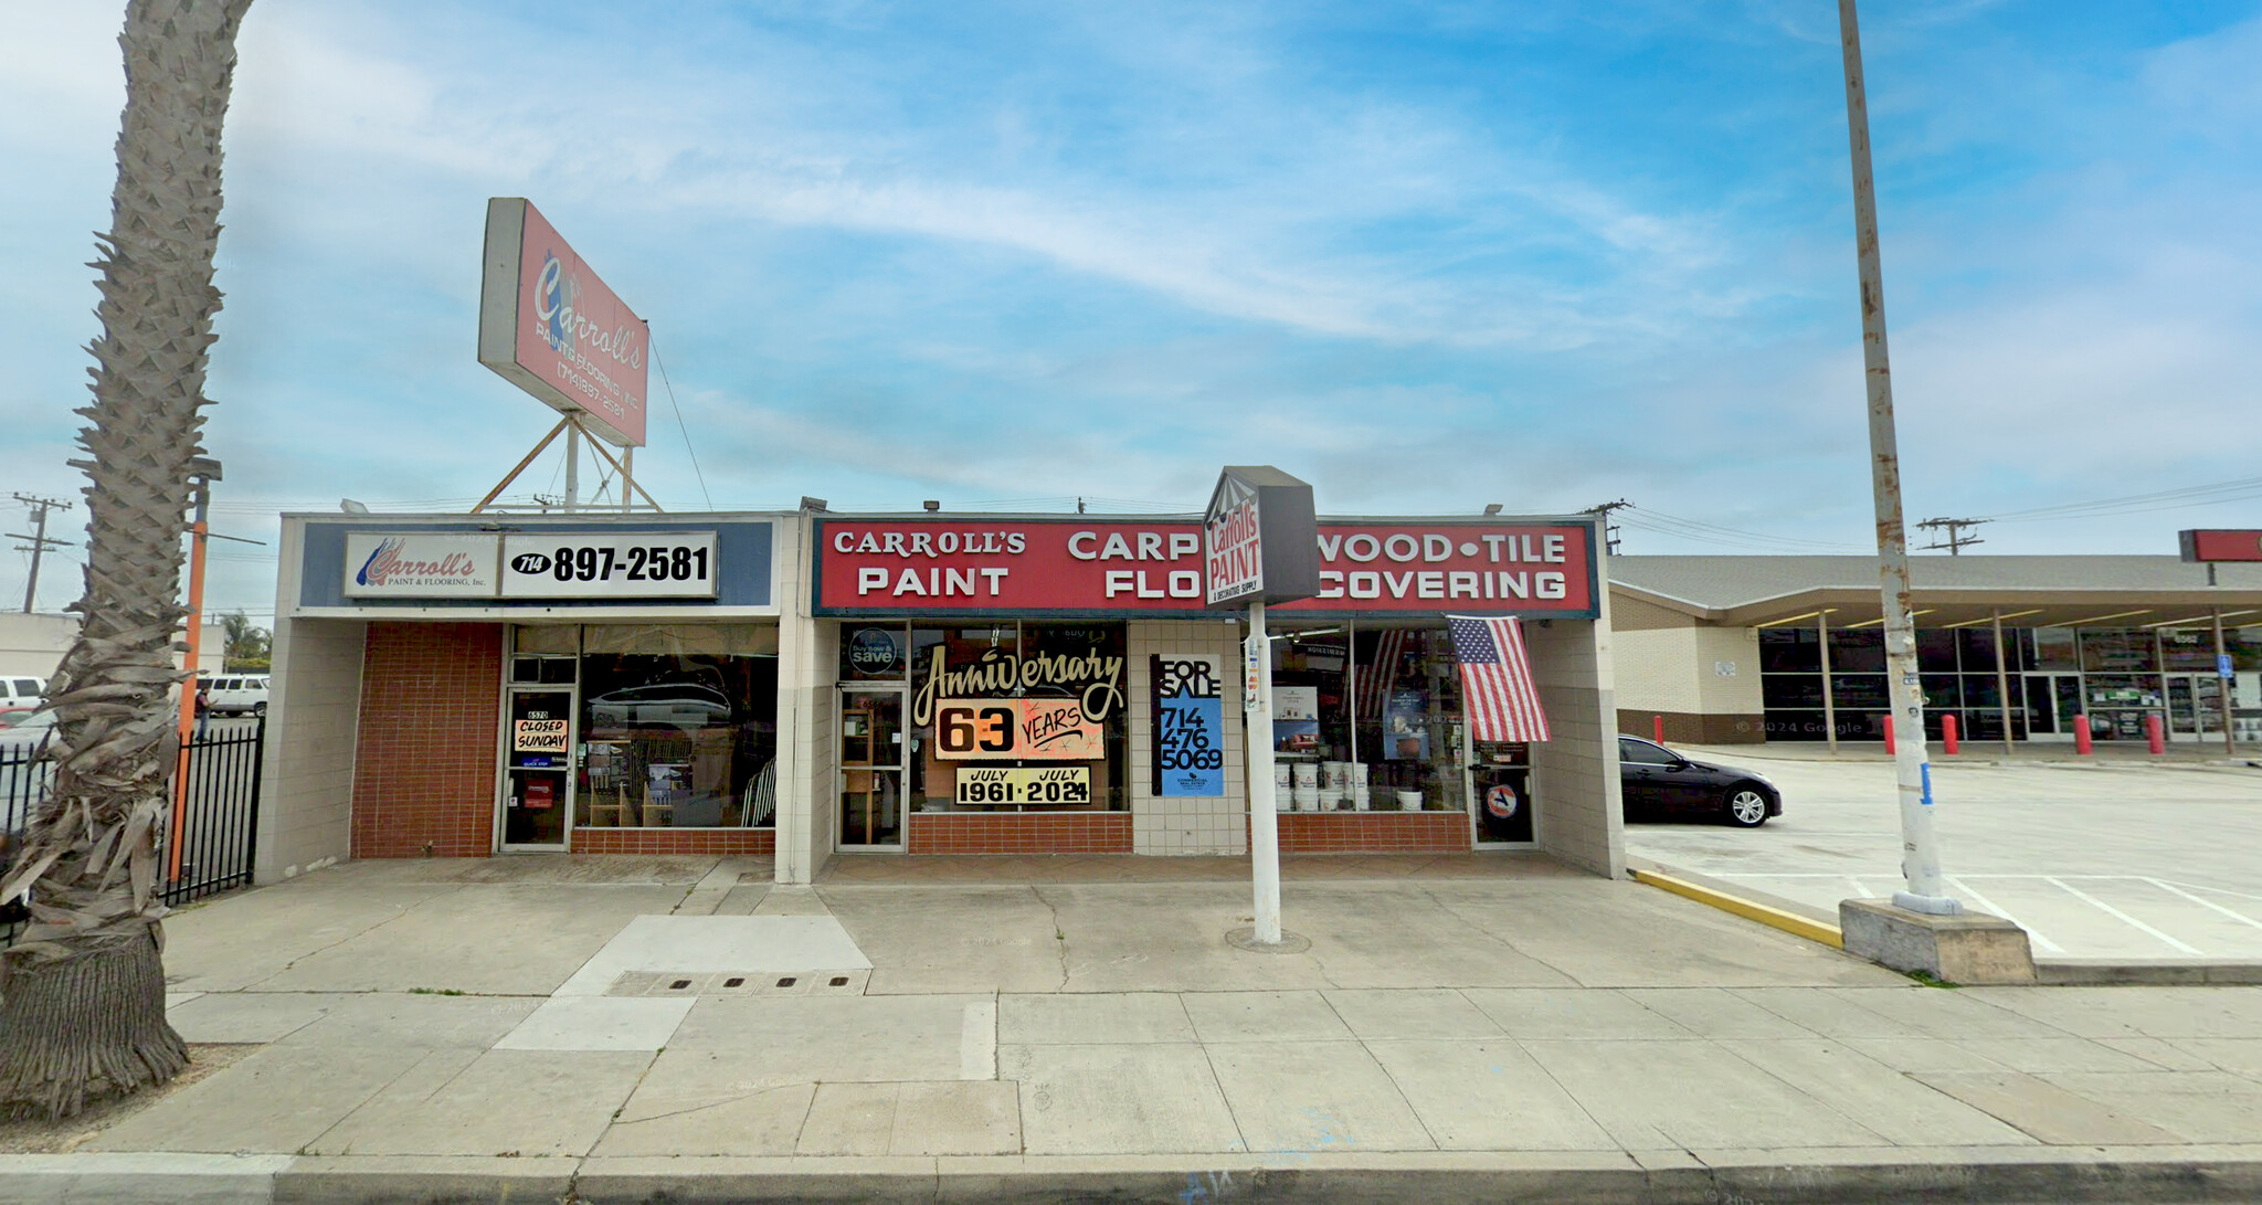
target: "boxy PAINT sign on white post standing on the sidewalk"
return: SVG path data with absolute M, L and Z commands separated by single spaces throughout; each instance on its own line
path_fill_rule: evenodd
M 1264 604 L 1319 595 L 1312 486 L 1271 466 L 1226 466 L 1201 515 L 1201 581 L 1210 606 L 1246 604 L 1242 712 L 1249 717 L 1249 879 L 1255 925 L 1246 947 L 1287 950 L 1280 934 L 1280 803 L 1274 798 L 1271 638 Z M 1240 943 L 1240 934 L 1235 934 Z

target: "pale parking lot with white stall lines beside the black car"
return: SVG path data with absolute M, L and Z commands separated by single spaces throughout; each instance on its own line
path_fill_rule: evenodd
M 1626 825 L 1626 850 L 1834 913 L 1900 886 L 1893 764 L 1877 753 L 1683 746 L 1785 796 L 1760 830 Z M 2262 961 L 2262 769 L 2226 762 L 1934 757 L 1957 898 L 2018 920 L 2040 959 Z

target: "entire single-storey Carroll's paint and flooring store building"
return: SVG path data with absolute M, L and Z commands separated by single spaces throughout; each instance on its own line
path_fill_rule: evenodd
M 1353 518 L 1271 608 L 1280 846 L 1615 875 L 1586 518 Z M 1199 522 L 285 515 L 258 873 L 344 857 L 1244 855 L 1242 635 Z M 1468 739 L 1518 615 L 1554 739 Z

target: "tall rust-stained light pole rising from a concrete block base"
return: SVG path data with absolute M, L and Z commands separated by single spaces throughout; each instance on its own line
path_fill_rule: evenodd
M 1893 369 L 1884 348 L 1884 269 L 1877 258 L 1877 194 L 1868 165 L 1868 99 L 1862 90 L 1862 32 L 1855 0 L 1839 0 L 1846 50 L 1846 133 L 1853 142 L 1853 226 L 1862 265 L 1862 362 L 1868 375 L 1868 459 L 1877 502 L 1877 577 L 1884 595 L 1884 671 L 1893 705 L 1893 771 L 1900 784 L 1900 873 L 1893 904 L 1952 916 L 1963 904 L 1941 888 L 1941 839 L 1932 825 L 1932 764 L 1925 757 L 1925 696 L 1916 676 L 1916 619 L 1909 615 L 1909 534 L 1900 518 L 1900 445 L 1893 436 Z

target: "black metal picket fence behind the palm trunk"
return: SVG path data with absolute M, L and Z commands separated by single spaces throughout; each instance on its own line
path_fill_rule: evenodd
M 45 746 L 45 735 L 7 739 L 7 730 L 0 730 L 0 834 L 7 836 L 9 857 L 16 855 L 32 816 L 54 784 L 54 766 L 41 760 Z M 251 882 L 265 751 L 267 717 L 213 719 L 188 742 L 179 866 L 172 848 L 158 850 L 161 898 L 167 904 L 185 904 Z M 0 922 L 0 945 L 7 945 L 18 927 Z

